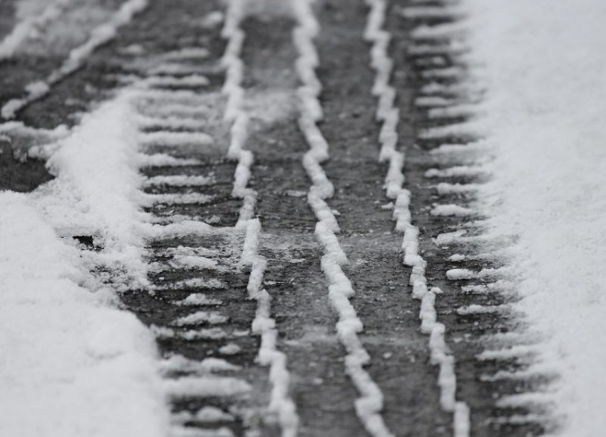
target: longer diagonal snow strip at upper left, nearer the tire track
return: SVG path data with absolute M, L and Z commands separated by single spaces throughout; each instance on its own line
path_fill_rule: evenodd
M 56 85 L 63 78 L 81 68 L 86 58 L 91 56 L 93 51 L 111 41 L 116 33 L 118 33 L 118 28 L 130 22 L 135 14 L 143 11 L 147 6 L 148 0 L 125 1 L 106 23 L 93 29 L 91 37 L 85 43 L 70 51 L 68 58 L 58 70 L 54 70 L 45 80 L 27 85 L 26 97 L 6 102 L 0 110 L 0 115 L 6 119 L 14 118 L 16 112 L 22 110 L 31 102 L 35 102 L 46 96 L 53 85 Z

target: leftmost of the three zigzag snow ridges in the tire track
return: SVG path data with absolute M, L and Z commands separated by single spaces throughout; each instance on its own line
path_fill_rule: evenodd
M 297 407 L 289 396 L 290 374 L 287 369 L 287 357 L 276 348 L 277 330 L 275 320 L 270 315 L 272 298 L 262 286 L 267 260 L 257 253 L 261 234 L 261 222 L 259 219 L 253 218 L 257 192 L 247 188 L 254 156 L 250 150 L 243 149 L 247 139 L 248 125 L 248 115 L 242 109 L 244 89 L 241 83 L 244 65 L 240 53 L 245 33 L 240 28 L 240 22 L 244 15 L 243 5 L 243 0 L 230 0 L 222 29 L 222 36 L 227 39 L 227 47 L 222 58 L 222 65 L 226 68 L 223 86 L 223 92 L 227 95 L 225 120 L 232 123 L 227 157 L 237 159 L 238 162 L 232 196 L 243 199 L 235 228 L 242 229 L 246 233 L 241 263 L 251 268 L 247 285 L 248 298 L 257 301 L 252 332 L 261 336 L 261 347 L 257 360 L 261 365 L 269 366 L 269 380 L 272 383 L 268 409 L 277 414 L 282 428 L 282 437 L 294 437 L 297 436 L 299 428 L 299 416 Z

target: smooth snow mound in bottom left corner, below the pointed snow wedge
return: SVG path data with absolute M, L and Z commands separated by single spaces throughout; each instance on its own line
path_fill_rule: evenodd
M 0 242 L 1 433 L 166 436 L 153 337 L 110 290 L 84 288 L 79 251 L 31 195 L 0 193 Z

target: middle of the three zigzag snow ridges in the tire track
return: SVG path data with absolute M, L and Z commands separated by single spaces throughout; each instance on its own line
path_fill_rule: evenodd
M 341 265 L 346 264 L 348 260 L 335 235 L 340 231 L 339 224 L 325 200 L 332 197 L 334 188 L 320 165 L 329 158 L 329 152 L 327 141 L 316 124 L 322 119 L 322 105 L 318 100 L 322 84 L 315 73 L 319 59 L 314 46 L 314 38 L 319 31 L 319 24 L 314 16 L 312 3 L 313 0 L 292 1 L 294 16 L 297 20 L 293 40 L 299 53 L 295 68 L 302 83 L 297 90 L 301 106 L 299 129 L 309 144 L 309 151 L 303 158 L 303 166 L 309 179 L 312 180 L 307 201 L 312 206 L 318 220 L 316 237 L 324 246 L 322 270 L 330 283 L 330 301 L 339 314 L 337 335 L 347 351 L 346 372 L 361 395 L 355 401 L 356 414 L 371 436 L 391 437 L 394 434 L 386 427 L 381 416 L 383 409 L 381 389 L 364 370 L 364 366 L 370 362 L 370 356 L 358 337 L 358 333 L 364 327 L 356 315 L 353 305 L 349 302 L 349 298 L 355 292 L 349 279 L 341 270 Z

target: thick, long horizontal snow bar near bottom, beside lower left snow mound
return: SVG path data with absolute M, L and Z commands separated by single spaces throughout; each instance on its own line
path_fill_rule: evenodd
M 252 390 L 243 379 L 216 376 L 167 379 L 163 385 L 173 399 L 242 396 Z

